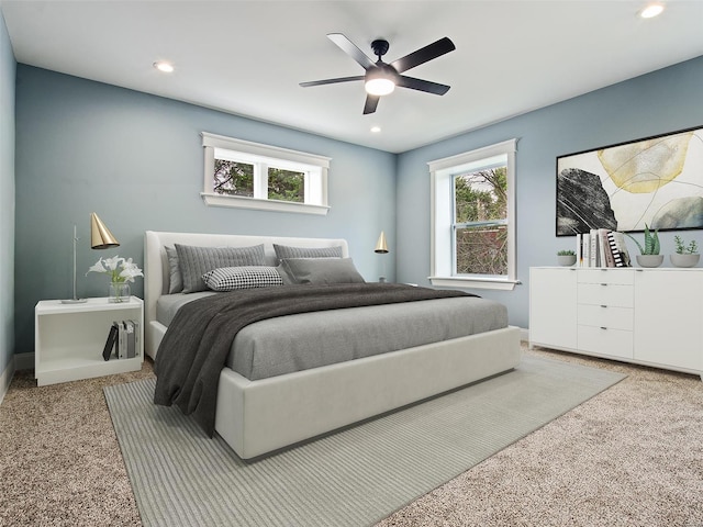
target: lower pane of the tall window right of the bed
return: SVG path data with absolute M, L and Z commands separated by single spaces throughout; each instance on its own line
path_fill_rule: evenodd
M 507 226 L 457 227 L 457 274 L 506 274 Z

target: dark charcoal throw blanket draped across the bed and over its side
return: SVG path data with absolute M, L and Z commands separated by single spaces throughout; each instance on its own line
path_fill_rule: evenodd
M 220 372 L 237 332 L 276 316 L 313 311 L 472 296 L 397 283 L 286 285 L 234 291 L 183 305 L 158 348 L 154 402 L 176 404 L 212 437 Z

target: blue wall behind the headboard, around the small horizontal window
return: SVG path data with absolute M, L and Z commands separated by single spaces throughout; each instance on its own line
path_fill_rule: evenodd
M 332 210 L 317 216 L 205 206 L 203 131 L 331 157 Z M 15 349 L 33 350 L 38 300 L 71 295 L 74 224 L 82 238 L 79 296 L 107 295 L 104 276 L 85 276 L 101 256 L 132 257 L 142 267 L 147 229 L 344 237 L 359 271 L 375 280 L 381 229 L 394 249 L 395 161 L 393 154 L 18 65 Z M 89 248 L 93 211 L 121 242 L 118 249 Z M 142 279 L 133 292 L 142 296 Z

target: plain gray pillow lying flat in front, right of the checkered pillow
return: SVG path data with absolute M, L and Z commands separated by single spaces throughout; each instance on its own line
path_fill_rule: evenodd
M 352 258 L 284 258 L 281 268 L 292 283 L 361 283 Z M 283 278 L 283 283 L 289 283 Z

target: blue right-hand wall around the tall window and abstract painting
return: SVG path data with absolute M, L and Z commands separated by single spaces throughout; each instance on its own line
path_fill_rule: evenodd
M 520 90 L 518 81 L 515 90 Z M 523 284 L 511 292 L 476 292 L 505 303 L 511 323 L 527 327 L 529 267 L 555 265 L 558 249 L 576 245 L 573 237 L 555 235 L 556 157 L 703 126 L 702 94 L 703 57 L 699 57 L 401 154 L 397 187 L 398 280 L 429 283 L 427 161 L 516 137 L 517 277 Z M 673 234 L 661 233 L 662 254 L 673 253 Z M 700 232 L 687 236 L 698 238 L 701 245 Z M 631 249 L 636 250 L 634 244 Z

